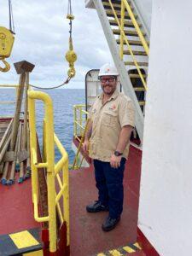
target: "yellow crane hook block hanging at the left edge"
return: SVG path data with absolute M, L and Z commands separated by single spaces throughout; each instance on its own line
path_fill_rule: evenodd
M 10 65 L 5 61 L 5 58 L 9 58 L 14 40 L 13 33 L 6 27 L 0 26 L 0 60 L 3 61 L 5 65 L 5 67 L 0 67 L 0 71 L 2 72 L 8 72 L 10 69 Z

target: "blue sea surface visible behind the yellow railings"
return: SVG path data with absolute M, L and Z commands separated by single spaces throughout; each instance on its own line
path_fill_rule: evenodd
M 59 137 L 62 145 L 69 155 L 69 162 L 73 162 L 74 153 L 72 150 L 73 141 L 73 105 L 84 104 L 85 92 L 83 89 L 57 89 L 42 90 L 49 94 L 54 104 L 55 134 Z M 15 101 L 15 89 L 1 89 L 0 102 Z M 0 116 L 13 116 L 15 105 L 0 104 Z M 42 144 L 42 130 L 44 119 L 44 104 L 37 102 L 37 131 L 39 143 Z M 22 113 L 21 113 L 22 116 Z M 60 154 L 55 150 L 55 160 L 59 160 Z

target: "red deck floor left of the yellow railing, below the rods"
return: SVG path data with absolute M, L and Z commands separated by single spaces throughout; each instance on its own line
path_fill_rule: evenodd
M 31 183 L 30 178 L 21 184 L 0 184 L 0 235 L 40 226 L 33 218 Z

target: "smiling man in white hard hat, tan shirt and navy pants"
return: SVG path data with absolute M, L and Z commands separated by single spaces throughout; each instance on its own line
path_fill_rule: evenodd
M 90 108 L 83 148 L 93 159 L 98 201 L 87 212 L 109 211 L 102 230 L 113 230 L 123 211 L 123 177 L 128 156 L 134 108 L 131 99 L 117 90 L 116 67 L 105 64 L 99 72 L 102 94 Z

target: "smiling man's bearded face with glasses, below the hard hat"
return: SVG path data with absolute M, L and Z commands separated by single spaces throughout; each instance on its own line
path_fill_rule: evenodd
M 117 77 L 115 76 L 102 76 L 100 78 L 103 93 L 112 96 L 117 87 Z

